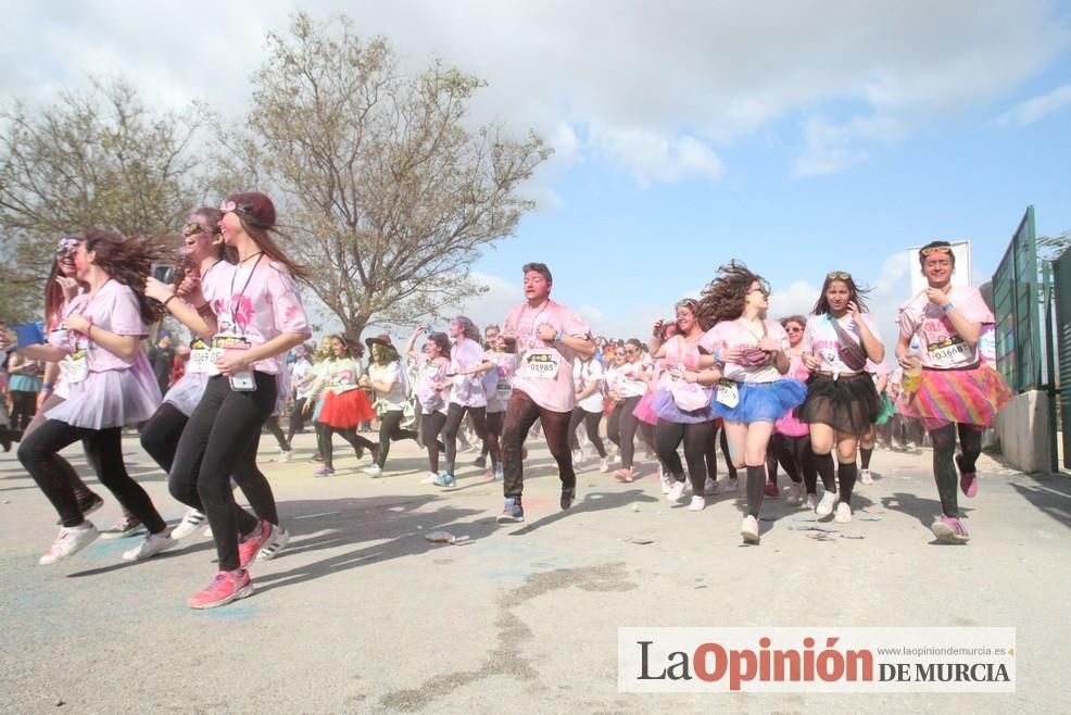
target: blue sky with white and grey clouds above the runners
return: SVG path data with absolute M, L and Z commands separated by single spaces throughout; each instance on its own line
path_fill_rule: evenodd
M 438 57 L 487 79 L 474 124 L 533 128 L 556 149 L 526 187 L 539 211 L 472 266 L 491 290 L 459 310 L 480 323 L 542 260 L 597 330 L 643 336 L 738 258 L 773 284 L 777 315 L 850 271 L 892 339 L 908 247 L 971 240 L 984 279 L 1028 204 L 1038 234 L 1071 228 L 1068 3 L 257 7 L 2 0 L 0 101 L 119 70 L 159 106 L 196 98 L 237 116 L 266 32 L 295 8 L 343 11 L 405 67 Z

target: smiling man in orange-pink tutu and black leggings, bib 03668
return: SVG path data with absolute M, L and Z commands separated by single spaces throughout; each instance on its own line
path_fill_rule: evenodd
M 933 535 L 942 541 L 966 543 L 970 536 L 959 519 L 956 471 L 963 494 L 973 498 L 982 431 L 1011 399 L 1011 391 L 979 354 L 979 338 L 985 326 L 994 324 L 993 313 L 976 288 L 952 285 L 956 271 L 952 246 L 947 241 L 928 243 L 919 251 L 919 263 L 927 289 L 900 309 L 896 359 L 905 371 L 917 369 L 921 363 L 922 375 L 917 390 L 905 385 L 897 409 L 921 418 L 933 441 L 933 476 L 942 511 L 930 527 Z M 918 340 L 917 355 L 911 354 L 912 338 Z

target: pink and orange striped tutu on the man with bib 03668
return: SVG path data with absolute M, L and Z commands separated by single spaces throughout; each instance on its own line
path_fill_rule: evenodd
M 923 367 L 918 391 L 902 392 L 896 410 L 908 417 L 922 418 L 927 429 L 954 422 L 988 427 L 1010 399 L 1011 390 L 1004 378 L 984 363 L 969 369 Z

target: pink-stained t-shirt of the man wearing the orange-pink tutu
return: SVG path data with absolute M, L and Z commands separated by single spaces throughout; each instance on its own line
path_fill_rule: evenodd
M 970 323 L 985 326 L 995 322 L 978 288 L 955 286 L 948 298 Z M 900 308 L 899 327 L 902 336 L 918 338 L 923 367 L 950 369 L 978 364 L 978 346 L 970 346 L 959 337 L 944 310 L 931 303 L 925 293 Z

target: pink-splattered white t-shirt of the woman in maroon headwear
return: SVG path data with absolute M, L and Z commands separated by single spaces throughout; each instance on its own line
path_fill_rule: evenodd
M 282 333 L 312 337 L 298 285 L 281 263 L 216 266 L 201 281 L 201 291 L 216 314 L 220 334 L 240 335 L 252 347 Z M 276 375 L 286 369 L 284 354 L 253 363 L 253 369 Z

